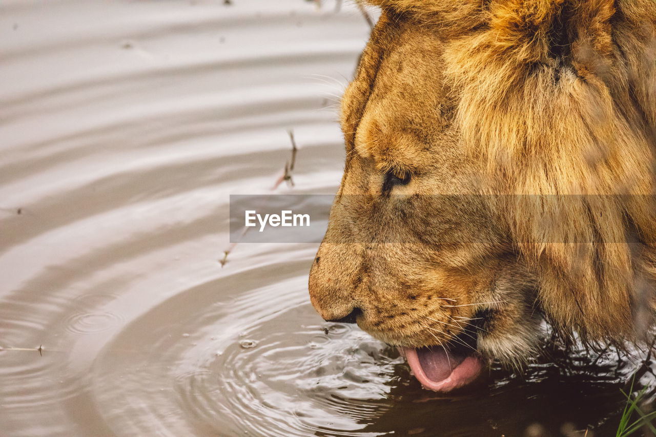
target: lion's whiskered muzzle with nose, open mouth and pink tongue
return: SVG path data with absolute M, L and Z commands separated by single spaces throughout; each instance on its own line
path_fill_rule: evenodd
M 331 228 L 341 221 L 333 216 Z M 537 352 L 535 280 L 512 256 L 486 257 L 480 244 L 330 238 L 310 272 L 312 304 L 326 320 L 357 322 L 398 346 L 425 388 L 460 389 L 480 381 L 491 360 L 514 367 Z

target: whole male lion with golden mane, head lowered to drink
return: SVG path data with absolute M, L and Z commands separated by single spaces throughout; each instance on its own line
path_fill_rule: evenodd
M 368 0 L 344 175 L 312 264 L 328 321 L 450 392 L 544 326 L 647 341 L 656 308 L 656 2 Z

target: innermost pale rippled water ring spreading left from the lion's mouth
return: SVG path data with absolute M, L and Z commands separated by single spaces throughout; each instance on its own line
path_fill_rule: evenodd
M 350 435 L 360 422 L 375 419 L 403 360 L 356 327 L 319 322 L 306 296 L 308 263 L 286 266 L 291 278 L 255 290 L 231 289 L 236 301 L 228 308 L 213 305 L 218 283 L 205 283 L 123 329 L 93 373 L 98 408 L 115 412 L 105 420 L 116 434 L 171 421 L 169 435 L 203 435 L 208 429 L 227 435 Z M 247 270 L 230 283 L 266 270 Z M 164 314 L 179 329 L 162 325 Z M 131 381 L 138 386 L 127 397 Z

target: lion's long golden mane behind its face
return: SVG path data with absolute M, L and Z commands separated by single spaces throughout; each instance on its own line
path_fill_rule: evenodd
M 590 342 L 640 335 L 636 308 L 653 309 L 656 280 L 656 1 L 368 3 L 443 35 L 457 123 L 487 191 L 586 195 L 500 206 L 542 301 L 558 308 L 552 323 Z

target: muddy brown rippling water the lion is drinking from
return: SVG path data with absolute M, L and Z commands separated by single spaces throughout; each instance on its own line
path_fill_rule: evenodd
M 0 436 L 614 435 L 626 379 L 653 388 L 639 352 L 553 350 L 438 396 L 314 312 L 316 245 L 221 262 L 230 194 L 337 188 L 369 27 L 335 6 L 0 3 Z

